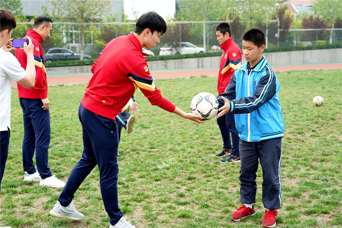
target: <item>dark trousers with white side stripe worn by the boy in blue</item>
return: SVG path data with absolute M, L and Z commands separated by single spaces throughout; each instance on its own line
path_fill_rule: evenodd
M 255 203 L 257 193 L 257 170 L 262 168 L 262 202 L 269 210 L 280 208 L 281 199 L 281 147 L 282 138 L 260 142 L 247 142 L 240 139 L 240 202 Z

